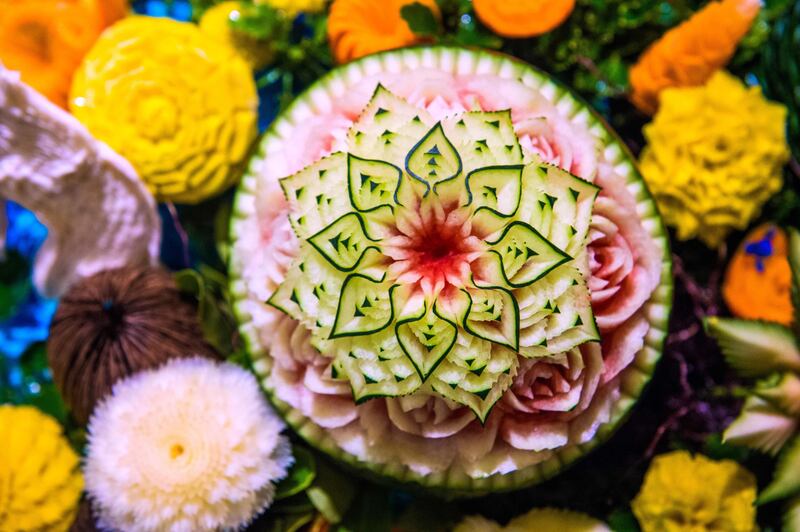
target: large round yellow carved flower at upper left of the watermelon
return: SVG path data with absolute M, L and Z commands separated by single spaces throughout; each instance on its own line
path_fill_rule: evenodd
M 197 26 L 130 17 L 97 41 L 70 108 L 159 200 L 197 203 L 239 177 L 256 136 L 249 66 Z

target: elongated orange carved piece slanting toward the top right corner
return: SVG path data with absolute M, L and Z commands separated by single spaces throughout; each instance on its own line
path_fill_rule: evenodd
M 665 33 L 630 70 L 634 105 L 653 114 L 662 90 L 705 84 L 733 56 L 760 6 L 759 0 L 711 2 Z

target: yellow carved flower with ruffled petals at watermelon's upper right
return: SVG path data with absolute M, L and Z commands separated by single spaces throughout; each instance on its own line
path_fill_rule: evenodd
M 744 229 L 781 188 L 789 159 L 786 108 L 717 72 L 702 87 L 667 89 L 652 123 L 641 169 L 680 240 L 717 247 Z

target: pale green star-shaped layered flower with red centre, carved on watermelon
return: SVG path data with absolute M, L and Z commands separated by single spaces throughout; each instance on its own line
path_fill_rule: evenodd
M 269 303 L 356 401 L 435 393 L 484 421 L 521 359 L 599 340 L 598 188 L 524 155 L 508 111 L 436 122 L 378 86 L 347 151 L 281 185 L 300 249 Z

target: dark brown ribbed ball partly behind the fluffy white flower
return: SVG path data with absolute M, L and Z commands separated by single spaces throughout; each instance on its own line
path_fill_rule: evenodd
M 121 268 L 79 281 L 59 303 L 47 353 L 53 380 L 85 424 L 114 383 L 172 358 L 217 357 L 194 305 L 161 268 Z

